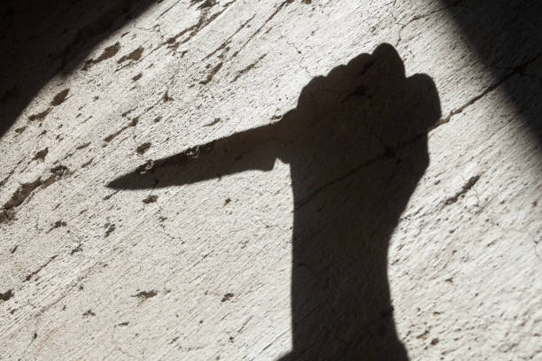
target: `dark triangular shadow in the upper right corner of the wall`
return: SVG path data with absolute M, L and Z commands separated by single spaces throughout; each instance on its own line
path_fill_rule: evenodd
M 542 141 L 542 1 L 441 2 Z

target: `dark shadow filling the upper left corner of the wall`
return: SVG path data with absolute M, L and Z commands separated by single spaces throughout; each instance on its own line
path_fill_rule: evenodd
M 89 51 L 157 0 L 3 0 L 0 3 L 0 137 L 56 74 L 69 73 Z M 88 65 L 116 55 L 111 44 Z M 101 59 L 100 59 L 101 58 Z M 50 107 L 68 92 L 51 96 Z M 44 119 L 44 109 L 28 120 Z

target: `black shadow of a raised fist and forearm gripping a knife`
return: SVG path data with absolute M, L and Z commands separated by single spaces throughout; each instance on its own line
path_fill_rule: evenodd
M 168 187 L 287 162 L 293 348 L 282 360 L 406 360 L 387 252 L 439 117 L 430 77 L 406 78 L 383 44 L 314 78 L 281 120 L 148 162 L 108 186 Z

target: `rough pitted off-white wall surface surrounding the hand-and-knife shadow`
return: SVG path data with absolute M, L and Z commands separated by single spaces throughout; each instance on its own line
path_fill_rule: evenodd
M 58 35 L 52 15 L 28 21 L 40 33 L 20 44 L 55 36 L 58 51 L 42 62 L 21 58 L 19 44 L 5 56 L 4 77 L 35 95 L 17 100 L 9 82 L 0 91 L 13 118 L 0 139 L 0 358 L 289 354 L 289 165 L 166 188 L 106 185 L 277 121 L 315 76 L 389 43 L 406 77 L 435 83 L 442 113 L 389 237 L 397 338 L 412 360 L 541 359 L 542 154 L 532 125 L 542 18 L 536 1 L 523 3 L 497 12 L 430 0 L 164 0 L 98 35 L 71 26 Z M 81 28 L 105 12 L 77 6 L 66 13 Z M 26 85 L 32 71 L 45 75 Z M 308 349 L 325 349 L 318 341 Z

